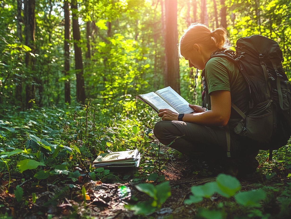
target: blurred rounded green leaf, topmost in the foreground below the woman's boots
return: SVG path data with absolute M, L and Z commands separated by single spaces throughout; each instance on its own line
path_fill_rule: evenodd
M 216 178 L 218 193 L 224 197 L 231 197 L 240 190 L 241 185 L 237 178 L 226 174 L 219 174 Z

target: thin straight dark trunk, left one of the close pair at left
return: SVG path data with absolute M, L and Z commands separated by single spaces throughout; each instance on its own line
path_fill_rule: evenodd
M 64 4 L 64 13 L 65 13 L 65 41 L 64 41 L 64 49 L 65 49 L 65 78 L 69 76 L 70 71 L 70 11 L 69 11 L 69 2 L 65 0 Z M 70 96 L 70 80 L 67 78 L 65 80 L 65 103 L 71 104 L 71 96 Z

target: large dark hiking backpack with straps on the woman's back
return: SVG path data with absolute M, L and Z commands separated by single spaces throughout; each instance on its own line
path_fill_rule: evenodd
M 229 129 L 256 141 L 258 149 L 270 150 L 272 159 L 272 150 L 286 145 L 291 136 L 291 85 L 282 67 L 282 51 L 277 42 L 261 35 L 239 38 L 235 49 L 210 57 L 236 63 L 249 87 L 249 110 L 243 113 L 232 103 L 242 119 L 230 119 Z M 230 156 L 228 133 L 227 141 Z

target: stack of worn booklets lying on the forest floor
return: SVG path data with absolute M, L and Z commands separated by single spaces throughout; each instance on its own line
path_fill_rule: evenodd
M 100 167 L 138 167 L 141 155 L 138 150 L 118 151 L 100 154 L 93 161 L 94 168 Z

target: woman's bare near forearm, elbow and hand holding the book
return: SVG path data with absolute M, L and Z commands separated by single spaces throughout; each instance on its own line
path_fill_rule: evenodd
M 210 97 L 211 110 L 203 113 L 187 113 L 184 115 L 183 121 L 207 126 L 225 126 L 230 118 L 230 91 L 213 91 Z M 160 109 L 158 116 L 162 117 L 162 120 L 178 120 L 178 114 L 168 109 Z

